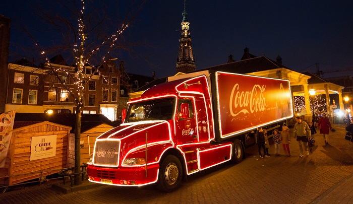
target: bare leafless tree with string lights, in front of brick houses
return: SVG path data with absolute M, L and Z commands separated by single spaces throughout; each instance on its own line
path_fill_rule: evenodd
M 69 92 L 71 97 L 75 100 L 76 105 L 76 126 L 75 126 L 75 173 L 80 172 L 80 135 L 81 135 L 81 107 L 82 107 L 82 91 L 85 84 L 89 83 L 89 80 L 84 80 L 85 78 L 90 79 L 93 75 L 99 72 L 99 69 L 94 69 L 91 74 L 84 73 L 85 66 L 95 64 L 100 67 L 109 59 L 111 55 L 118 48 L 121 48 L 119 44 L 119 39 L 122 38 L 122 33 L 128 28 L 129 24 L 135 19 L 137 13 L 142 8 L 145 1 L 141 1 L 136 6 L 136 9 L 131 10 L 121 22 L 119 27 L 116 27 L 114 23 L 109 20 L 106 13 L 96 11 L 92 9 L 88 14 L 84 11 L 86 6 L 85 2 L 82 0 L 72 2 L 60 2 L 61 7 L 65 8 L 67 11 L 65 15 L 60 15 L 56 13 L 43 13 L 41 15 L 42 19 L 53 26 L 57 33 L 62 36 L 63 45 L 55 45 L 53 50 L 49 48 L 43 48 L 40 42 L 38 42 L 35 37 L 32 39 L 35 41 L 36 46 L 40 50 L 42 56 L 45 58 L 46 67 L 51 70 L 51 74 L 56 76 L 57 80 L 62 84 L 62 86 Z M 93 1 L 90 2 L 93 4 Z M 96 2 L 95 2 L 96 3 Z M 91 5 L 93 6 L 93 5 Z M 110 23 L 110 24 L 109 24 Z M 111 28 L 117 29 L 111 29 Z M 108 29 L 109 28 L 109 29 Z M 110 35 L 106 33 L 107 30 L 114 30 Z M 30 35 L 30 33 L 28 32 Z M 123 38 L 122 38 L 123 39 Z M 61 52 L 69 52 L 69 58 L 71 56 L 73 64 L 75 64 L 75 73 L 68 72 L 67 70 L 58 71 L 50 63 L 47 57 L 46 50 L 50 53 L 55 53 L 58 50 Z M 74 81 L 75 89 L 72 91 L 69 86 L 60 77 L 59 72 L 67 72 L 68 77 Z M 75 175 L 75 185 L 80 184 L 80 175 Z

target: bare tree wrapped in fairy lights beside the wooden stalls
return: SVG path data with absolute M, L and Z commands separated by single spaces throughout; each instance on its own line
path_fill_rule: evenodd
M 145 1 L 141 3 L 138 11 L 142 8 Z M 102 37 L 100 29 L 97 30 L 96 33 L 93 32 L 95 29 L 99 29 L 100 23 L 106 18 L 105 15 L 102 17 L 100 21 L 97 21 L 98 25 L 92 25 L 92 16 L 96 15 L 92 13 L 91 15 L 86 15 L 85 10 L 85 2 L 82 0 L 81 4 L 77 6 L 74 2 L 74 10 L 70 11 L 70 13 L 74 14 L 75 11 L 78 11 L 76 14 L 77 21 L 75 23 L 71 23 L 70 20 L 66 17 L 57 16 L 55 13 L 55 17 L 50 17 L 51 15 L 45 14 L 44 16 L 50 18 L 47 22 L 50 22 L 54 27 L 61 32 L 63 36 L 64 42 L 67 43 L 67 49 L 71 51 L 74 59 L 74 64 L 76 64 L 77 71 L 69 72 L 66 69 L 60 68 L 57 69 L 53 67 L 50 63 L 50 60 L 46 56 L 46 52 L 40 46 L 40 44 L 34 39 L 36 46 L 39 48 L 41 55 L 46 61 L 46 66 L 51 70 L 51 74 L 53 74 L 58 82 L 61 83 L 64 89 L 66 89 L 67 93 L 70 94 L 71 98 L 74 99 L 75 109 L 76 109 L 76 125 L 75 125 L 75 172 L 81 171 L 81 114 L 82 114 L 82 106 L 83 106 L 83 90 L 87 83 L 89 83 L 94 75 L 102 76 L 99 71 L 99 67 L 106 63 L 106 59 L 110 56 L 111 52 L 118 48 L 117 40 L 120 35 L 128 28 L 129 22 L 132 22 L 137 13 L 134 12 L 134 15 L 129 16 L 127 14 L 127 18 L 125 19 L 125 23 L 123 23 L 119 29 L 116 29 L 110 36 Z M 79 8 L 77 8 L 79 7 Z M 69 8 L 69 6 L 65 5 L 65 8 Z M 70 9 L 69 9 L 70 10 Z M 75 25 L 76 24 L 76 25 Z M 29 34 L 29 33 L 28 33 Z M 94 35 L 96 34 L 96 35 Z M 104 33 L 105 34 L 105 33 Z M 115 53 L 113 53 L 115 54 Z M 97 63 L 96 68 L 91 66 L 91 62 Z M 87 74 L 85 73 L 85 69 L 90 67 L 92 72 Z M 74 67 L 75 68 L 75 67 Z M 59 75 L 59 73 L 66 73 L 66 77 L 73 80 L 74 91 L 72 91 L 69 85 L 66 83 L 66 80 L 63 81 L 63 78 Z M 66 79 L 66 78 L 65 78 Z M 80 174 L 75 175 L 75 185 L 80 184 Z

